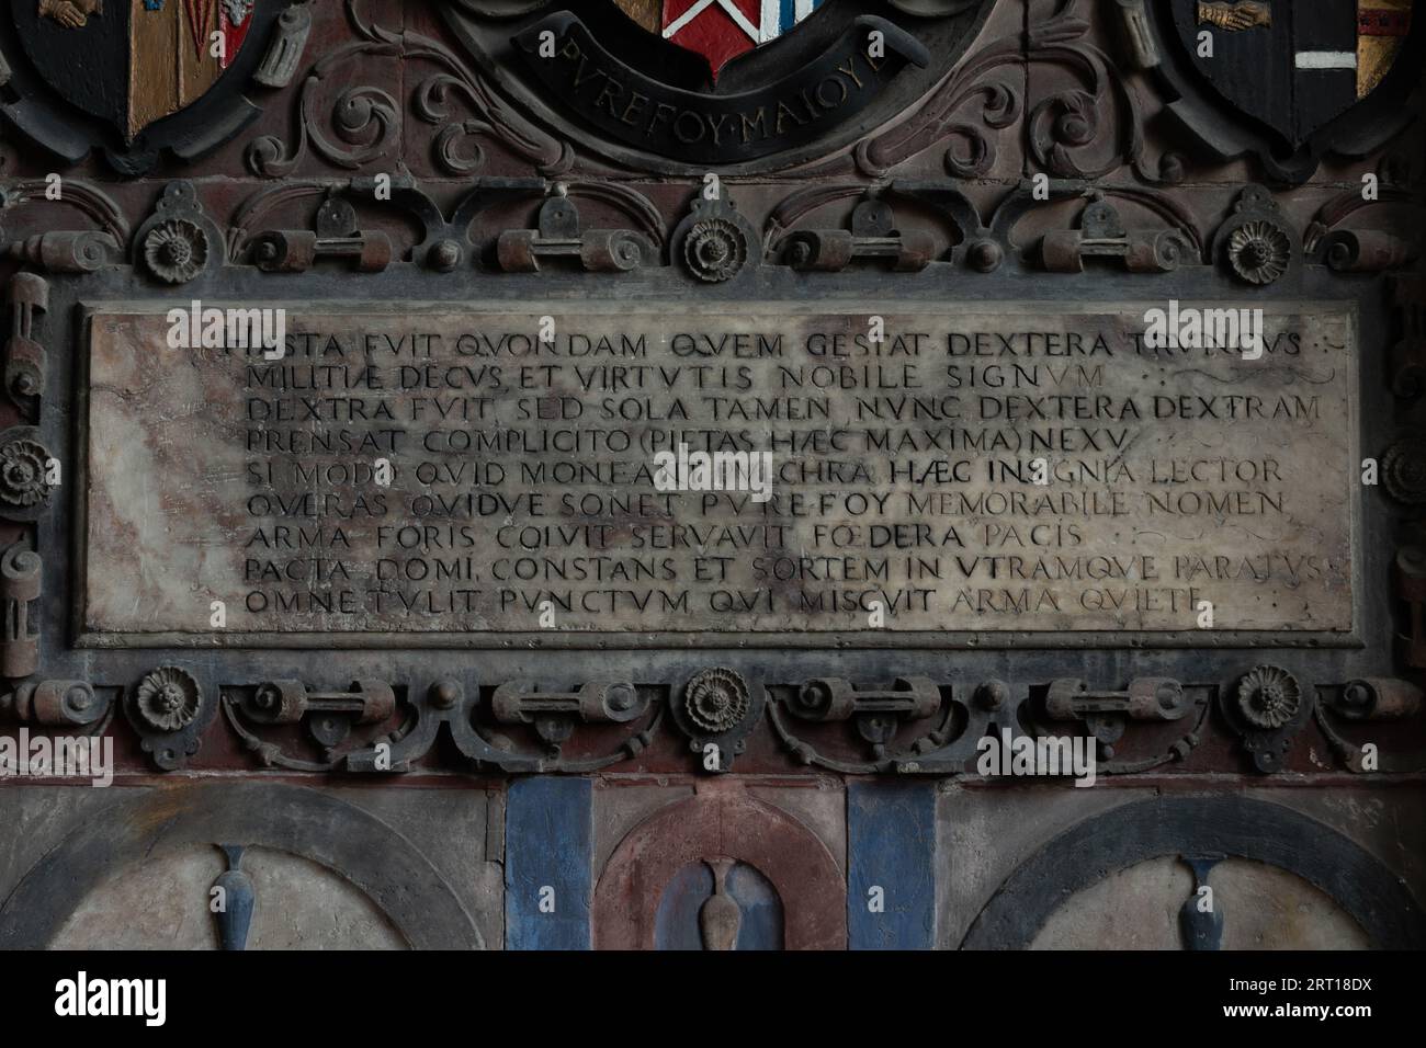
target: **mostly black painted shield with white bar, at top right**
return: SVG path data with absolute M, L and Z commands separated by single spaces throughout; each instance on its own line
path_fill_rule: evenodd
M 1410 19 L 1412 0 L 1174 0 L 1198 71 L 1293 147 L 1376 88 Z

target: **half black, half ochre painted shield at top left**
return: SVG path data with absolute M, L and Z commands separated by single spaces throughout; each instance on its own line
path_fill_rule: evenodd
M 133 143 L 198 101 L 242 48 L 257 0 L 11 0 L 36 71 Z

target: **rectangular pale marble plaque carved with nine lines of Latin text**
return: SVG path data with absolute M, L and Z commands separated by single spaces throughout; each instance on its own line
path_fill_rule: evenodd
M 104 307 L 78 633 L 1349 640 L 1355 317 L 1155 305 L 288 304 L 279 361 Z

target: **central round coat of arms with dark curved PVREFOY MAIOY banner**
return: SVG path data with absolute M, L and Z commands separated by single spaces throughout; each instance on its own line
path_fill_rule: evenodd
M 992 3 L 453 0 L 446 10 L 482 58 L 513 44 L 522 63 L 506 86 L 529 81 L 605 145 L 704 165 L 791 157 L 884 123 L 945 76 Z

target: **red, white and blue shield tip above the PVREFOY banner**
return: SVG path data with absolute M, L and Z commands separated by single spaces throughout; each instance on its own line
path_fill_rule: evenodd
M 723 66 L 791 31 L 823 0 L 616 0 L 625 14 L 669 43 Z

